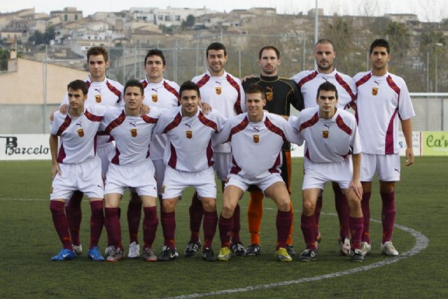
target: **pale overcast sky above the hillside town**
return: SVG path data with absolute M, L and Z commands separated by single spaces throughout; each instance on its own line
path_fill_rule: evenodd
M 385 13 L 412 13 L 419 16 L 421 22 L 440 22 L 448 18 L 448 0 L 317 0 L 318 8 L 323 8 L 324 15 L 384 15 Z M 161 3 L 162 2 L 162 3 Z M 188 6 L 186 6 L 188 3 Z M 430 5 L 428 5 L 430 3 Z M 107 4 L 107 5 L 105 5 Z M 256 7 L 276 8 L 277 13 L 307 13 L 316 7 L 316 0 L 13 0 L 1 1 L 0 13 L 19 11 L 24 8 L 35 8 L 36 13 L 50 13 L 74 6 L 83 11 L 83 15 L 91 15 L 97 11 L 123 11 L 131 7 L 167 8 L 211 8 L 215 11 L 230 12 L 232 9 Z

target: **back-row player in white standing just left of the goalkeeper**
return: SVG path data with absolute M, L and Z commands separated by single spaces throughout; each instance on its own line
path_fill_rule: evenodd
M 202 102 L 210 104 L 213 109 L 218 110 L 225 118 L 230 118 L 242 113 L 246 108 L 244 105 L 244 90 L 241 81 L 225 71 L 228 61 L 227 50 L 222 43 L 211 43 L 207 47 L 208 71 L 193 78 L 200 88 Z M 224 188 L 225 178 L 231 166 L 231 155 L 229 144 L 220 144 L 214 147 L 214 160 L 216 176 L 221 180 L 221 188 Z M 199 231 L 202 221 L 202 204 L 193 195 L 190 205 L 190 241 L 185 250 L 186 257 L 195 256 L 200 249 L 201 243 Z M 235 211 L 235 231 L 232 235 L 232 250 L 237 256 L 246 256 L 246 249 L 239 239 L 239 205 Z

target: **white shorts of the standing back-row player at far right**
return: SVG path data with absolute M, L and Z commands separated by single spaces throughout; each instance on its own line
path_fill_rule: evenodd
M 377 172 L 380 181 L 400 181 L 400 155 L 374 155 L 363 153 L 361 157 L 361 181 L 373 181 Z

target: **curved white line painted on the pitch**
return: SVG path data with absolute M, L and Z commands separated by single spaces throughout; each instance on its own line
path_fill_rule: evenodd
M 370 219 L 370 221 L 376 222 L 376 223 L 381 223 L 381 221 L 377 221 L 375 219 Z M 384 265 L 388 265 L 391 263 L 396 263 L 399 260 L 402 260 L 403 258 L 409 258 L 410 256 L 416 255 L 423 249 L 426 249 L 426 247 L 428 246 L 429 239 L 427 237 L 425 237 L 421 232 L 414 230 L 412 228 L 408 228 L 407 226 L 400 225 L 400 224 L 395 224 L 394 226 L 395 226 L 395 228 L 398 228 L 399 230 L 404 230 L 405 232 L 408 232 L 409 234 L 414 236 L 414 238 L 416 240 L 416 244 L 414 245 L 414 247 L 412 247 L 412 249 L 410 249 L 409 251 L 406 251 L 405 253 L 401 253 L 400 256 L 395 257 L 395 258 L 387 258 L 386 260 L 381 260 L 380 262 L 372 263 L 370 265 L 365 265 L 363 267 L 357 267 L 354 269 L 334 272 L 334 273 L 330 273 L 330 274 L 323 274 L 323 275 L 319 275 L 319 276 L 315 276 L 315 277 L 305 277 L 305 278 L 295 279 L 295 280 L 290 280 L 290 281 L 279 281 L 279 282 L 275 282 L 273 284 L 260 284 L 258 286 L 246 286 L 244 288 L 230 288 L 228 290 L 209 292 L 209 293 L 193 293 L 190 295 L 180 295 L 180 296 L 176 296 L 176 297 L 169 297 L 166 299 L 188 299 L 188 298 L 200 298 L 200 297 L 207 297 L 207 296 L 214 296 L 214 295 L 228 295 L 228 294 L 232 294 L 232 293 L 243 293 L 243 292 L 247 292 L 247 291 L 262 290 L 262 289 L 266 289 L 266 288 L 275 288 L 277 286 L 289 286 L 290 284 L 302 284 L 304 282 L 309 282 L 309 281 L 318 281 L 321 279 L 340 277 L 340 276 L 344 276 L 344 275 L 348 275 L 348 274 L 371 270 L 371 269 L 374 269 L 377 267 L 382 267 Z

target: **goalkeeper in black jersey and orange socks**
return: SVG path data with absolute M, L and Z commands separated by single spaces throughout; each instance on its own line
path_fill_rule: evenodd
M 247 78 L 246 81 L 243 82 L 243 87 L 247 88 L 253 83 L 258 84 L 266 95 L 266 106 L 264 109 L 271 113 L 289 116 L 290 105 L 293 105 L 293 107 L 299 111 L 303 109 L 303 98 L 297 90 L 297 85 L 294 81 L 281 78 L 277 74 L 280 63 L 280 52 L 277 48 L 274 46 L 265 46 L 261 48 L 258 53 L 258 65 L 260 66 L 261 74 L 256 78 Z M 286 141 L 283 144 L 281 153 L 281 177 L 286 183 L 286 188 L 290 194 L 291 155 L 289 141 Z M 263 213 L 263 193 L 260 189 L 253 188 L 252 186 L 249 190 L 251 191 L 251 200 L 248 204 L 247 220 L 249 232 L 251 233 L 251 243 L 247 246 L 246 255 L 254 256 L 261 253 L 260 225 Z M 294 220 L 292 202 L 290 211 Z M 294 225 L 292 224 L 288 239 L 286 240 L 286 250 L 290 256 L 295 256 L 292 240 L 293 228 Z

